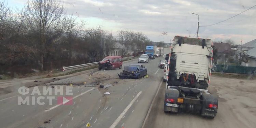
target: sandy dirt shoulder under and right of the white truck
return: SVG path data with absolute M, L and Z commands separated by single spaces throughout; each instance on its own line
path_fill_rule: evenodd
M 143 128 L 255 128 L 255 83 L 255 80 L 211 76 L 210 92 L 219 96 L 218 113 L 214 119 L 199 114 L 164 113 L 166 85 L 162 84 Z

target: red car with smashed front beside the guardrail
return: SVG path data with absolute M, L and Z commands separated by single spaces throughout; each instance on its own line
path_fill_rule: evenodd
M 122 68 L 123 60 L 121 56 L 108 56 L 101 60 L 99 63 L 99 70 L 113 70 L 115 68 Z

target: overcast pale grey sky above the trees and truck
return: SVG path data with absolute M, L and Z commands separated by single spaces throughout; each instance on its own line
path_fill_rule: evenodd
M 101 26 L 116 33 L 120 29 L 143 32 L 152 41 L 170 42 L 174 35 L 196 37 L 199 26 L 230 18 L 256 4 L 255 0 L 61 0 L 69 14 L 87 20 L 85 28 Z M 21 8 L 26 0 L 10 0 Z M 167 32 L 167 34 L 162 34 Z M 256 38 L 256 7 L 226 22 L 199 27 L 200 38 L 232 39 L 243 44 Z

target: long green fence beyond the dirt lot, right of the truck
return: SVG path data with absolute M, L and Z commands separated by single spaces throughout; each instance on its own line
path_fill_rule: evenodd
M 244 67 L 244 66 L 230 66 L 230 65 L 215 65 L 212 68 L 215 72 L 225 73 L 239 73 L 239 74 L 252 74 L 256 70 L 256 67 Z

